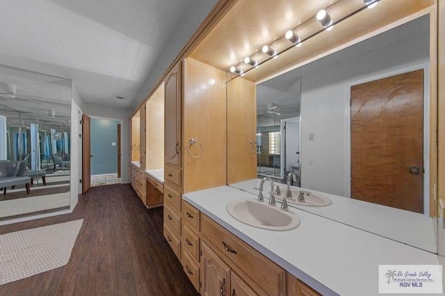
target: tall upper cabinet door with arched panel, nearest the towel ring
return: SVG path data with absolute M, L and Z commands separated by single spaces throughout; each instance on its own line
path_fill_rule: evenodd
M 165 78 L 165 158 L 181 167 L 181 62 Z

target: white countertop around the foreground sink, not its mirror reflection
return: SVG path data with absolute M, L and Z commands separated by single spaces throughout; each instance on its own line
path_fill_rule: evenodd
M 378 295 L 379 264 L 439 264 L 430 252 L 298 208 L 289 210 L 300 217 L 296 229 L 250 227 L 229 215 L 226 206 L 256 195 L 230 186 L 186 193 L 183 198 L 323 295 Z

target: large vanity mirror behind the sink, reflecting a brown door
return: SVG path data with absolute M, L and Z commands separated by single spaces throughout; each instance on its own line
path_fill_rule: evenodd
M 278 62 L 259 71 L 268 63 Z M 229 185 L 257 194 L 268 176 L 285 192 L 291 173 L 331 202 L 291 206 L 437 253 L 429 74 L 427 14 L 272 79 L 237 76 L 227 83 Z M 241 151 L 250 156 L 234 161 Z

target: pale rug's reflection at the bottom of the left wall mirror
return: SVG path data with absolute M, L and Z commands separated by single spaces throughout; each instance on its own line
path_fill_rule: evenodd
M 10 217 L 24 213 L 34 213 L 70 206 L 70 192 L 55 195 L 41 195 L 21 199 L 9 199 L 0 202 L 0 217 Z

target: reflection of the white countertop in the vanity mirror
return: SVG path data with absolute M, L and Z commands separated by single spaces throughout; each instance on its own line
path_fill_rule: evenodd
M 259 183 L 261 179 L 253 179 L 239 183 L 230 184 L 234 188 L 245 190 L 254 195 L 258 195 Z M 286 192 L 286 184 L 275 183 L 280 186 L 282 194 Z M 269 192 L 270 185 L 265 184 L 264 196 Z M 298 204 L 290 204 L 294 208 L 299 208 L 309 213 L 321 215 L 329 219 L 348 224 L 359 229 L 391 238 L 407 245 L 412 245 L 428 252 L 437 253 L 437 238 L 435 236 L 435 226 L 431 217 L 410 211 L 403 211 L 398 208 L 382 206 L 380 204 L 372 204 L 357 199 L 341 197 L 339 195 L 331 195 L 325 192 L 310 190 L 291 186 L 293 190 L 306 190 L 325 195 L 332 200 L 329 206 L 300 206 Z M 415 235 L 413 235 L 415 233 Z

